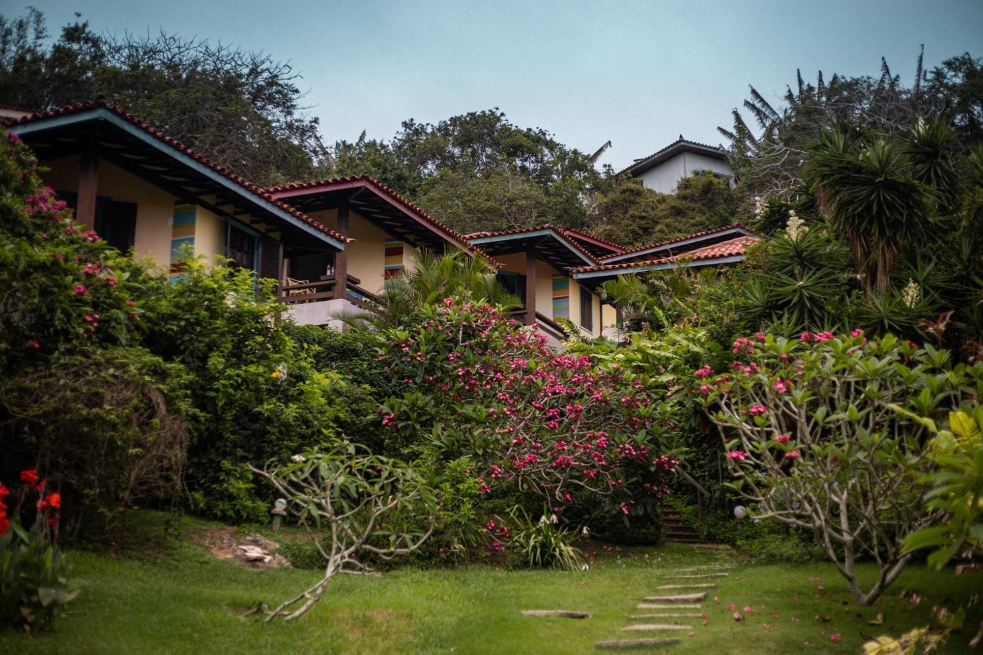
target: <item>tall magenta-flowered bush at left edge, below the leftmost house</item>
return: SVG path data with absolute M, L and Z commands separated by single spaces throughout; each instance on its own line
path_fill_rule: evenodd
M 134 491 L 178 486 L 182 372 L 136 345 L 139 268 L 72 219 L 7 134 L 0 189 L 0 476 L 41 466 L 76 533 Z

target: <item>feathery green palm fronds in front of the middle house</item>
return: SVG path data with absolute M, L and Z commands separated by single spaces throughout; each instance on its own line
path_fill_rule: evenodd
M 498 283 L 494 269 L 481 256 L 463 252 L 420 253 L 412 268 L 386 282 L 378 294 L 379 310 L 349 317 L 354 326 L 399 327 L 421 307 L 448 297 L 485 302 L 508 311 L 522 307 L 522 302 Z

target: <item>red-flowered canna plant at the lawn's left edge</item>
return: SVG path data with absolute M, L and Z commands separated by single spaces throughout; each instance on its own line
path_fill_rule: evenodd
M 0 484 L 0 627 L 29 632 L 51 627 L 55 610 L 79 590 L 68 586 L 65 556 L 57 546 L 61 494 L 47 491 L 33 469 L 21 473 L 21 482 L 12 514 L 10 490 Z M 32 497 L 37 499 L 34 522 L 25 530 L 17 516 Z

